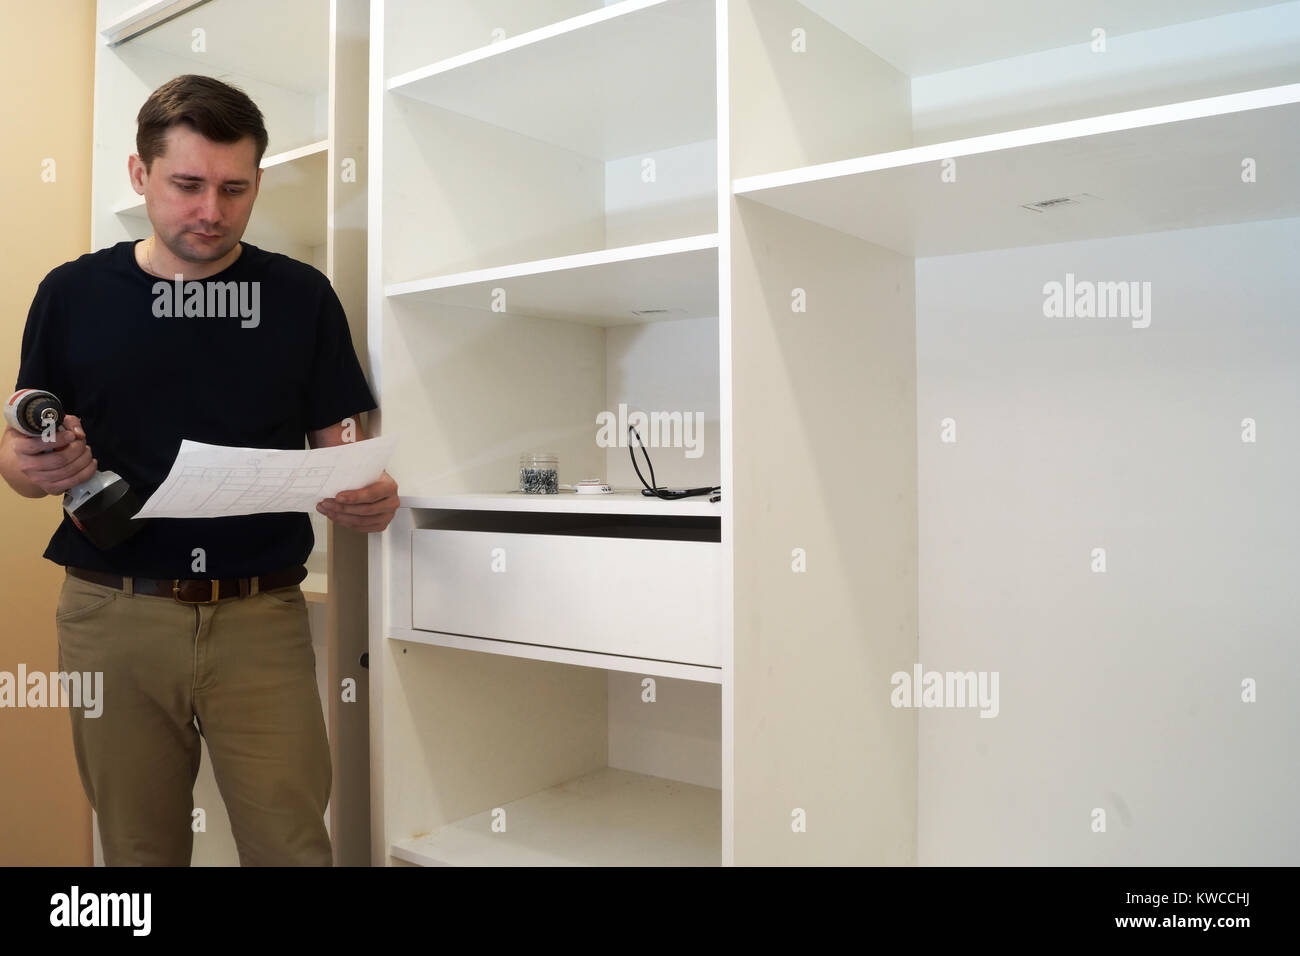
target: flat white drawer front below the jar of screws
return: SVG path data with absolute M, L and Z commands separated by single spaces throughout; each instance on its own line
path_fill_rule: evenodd
M 491 531 L 411 532 L 411 626 L 722 666 L 722 546 Z

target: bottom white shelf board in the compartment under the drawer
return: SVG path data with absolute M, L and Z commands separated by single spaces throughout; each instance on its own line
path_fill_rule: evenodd
M 495 809 L 495 808 L 493 808 Z M 604 767 L 504 804 L 390 852 L 421 866 L 718 866 L 722 793 Z

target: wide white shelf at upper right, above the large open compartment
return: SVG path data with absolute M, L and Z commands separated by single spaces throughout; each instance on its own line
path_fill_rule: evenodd
M 740 178 L 737 195 L 910 256 L 1300 215 L 1300 83 Z M 1242 181 L 1242 160 L 1257 182 Z M 956 160 L 956 182 L 941 179 Z M 1046 212 L 1023 208 L 1084 196 Z

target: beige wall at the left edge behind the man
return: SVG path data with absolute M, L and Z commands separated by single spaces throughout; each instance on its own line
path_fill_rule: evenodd
M 90 251 L 94 0 L 0 0 L 0 371 L 18 373 L 27 308 L 49 269 Z M 55 181 L 42 163 L 55 160 Z M 21 498 L 0 481 L 0 671 L 58 670 L 58 566 L 42 558 L 57 498 Z M 91 813 L 65 709 L 0 709 L 0 865 L 90 865 Z

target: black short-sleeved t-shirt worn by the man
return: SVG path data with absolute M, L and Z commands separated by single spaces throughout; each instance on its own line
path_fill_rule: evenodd
M 242 246 L 228 268 L 198 280 L 202 299 L 188 281 L 178 299 L 174 282 L 142 269 L 131 241 L 64 263 L 36 289 L 14 389 L 57 395 L 81 418 L 100 471 L 121 475 L 142 503 L 182 438 L 302 449 L 308 431 L 377 407 L 329 280 Z M 209 294 L 214 282 L 238 285 Z M 302 564 L 315 544 L 304 511 L 139 522 L 133 537 L 100 550 L 62 514 L 44 557 L 142 578 L 243 578 Z

